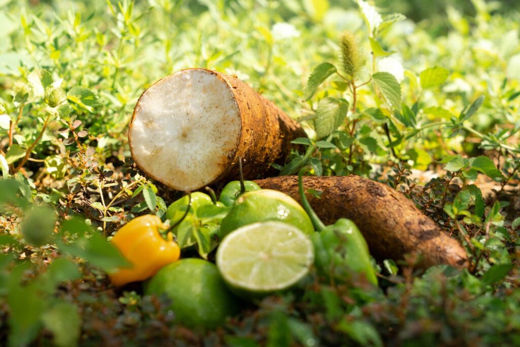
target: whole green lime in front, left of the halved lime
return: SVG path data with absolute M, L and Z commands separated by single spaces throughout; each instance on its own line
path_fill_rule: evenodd
M 196 258 L 163 267 L 147 282 L 145 293 L 166 294 L 175 322 L 190 328 L 214 329 L 239 307 L 215 264 Z

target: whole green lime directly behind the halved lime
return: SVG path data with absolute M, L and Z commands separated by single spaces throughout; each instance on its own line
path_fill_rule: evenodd
M 241 226 L 256 222 L 280 221 L 291 224 L 306 234 L 314 227 L 300 204 L 277 190 L 262 189 L 240 196 L 220 225 L 220 235 L 226 236 Z

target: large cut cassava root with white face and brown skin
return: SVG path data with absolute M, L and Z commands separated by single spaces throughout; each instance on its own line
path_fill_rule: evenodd
M 187 69 L 137 101 L 128 130 L 132 157 L 148 176 L 183 191 L 235 177 L 257 178 L 307 137 L 287 114 L 236 77 Z

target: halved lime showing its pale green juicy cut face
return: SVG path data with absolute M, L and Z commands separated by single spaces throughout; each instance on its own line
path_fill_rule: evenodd
M 291 287 L 307 274 L 313 261 L 309 236 L 278 221 L 236 229 L 222 240 L 216 256 L 228 286 L 246 298 Z

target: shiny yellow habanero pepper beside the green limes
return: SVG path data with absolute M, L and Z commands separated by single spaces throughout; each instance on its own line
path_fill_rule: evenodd
M 172 233 L 165 240 L 158 227 L 166 228 L 155 215 L 139 216 L 126 223 L 112 238 L 112 243 L 132 267 L 109 274 L 115 286 L 142 281 L 155 275 L 163 266 L 179 259 L 180 249 Z

